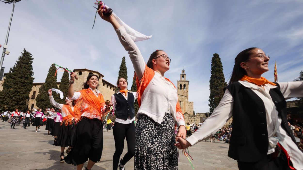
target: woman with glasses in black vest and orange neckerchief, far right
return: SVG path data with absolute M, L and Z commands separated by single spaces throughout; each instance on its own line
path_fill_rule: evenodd
M 285 101 L 303 97 L 303 81 L 266 80 L 261 75 L 269 70 L 268 62 L 260 48 L 239 53 L 218 107 L 193 135 L 178 138 L 176 146 L 185 149 L 201 142 L 232 116 L 228 156 L 238 161 L 240 170 L 303 169 L 303 153 L 288 127 Z

